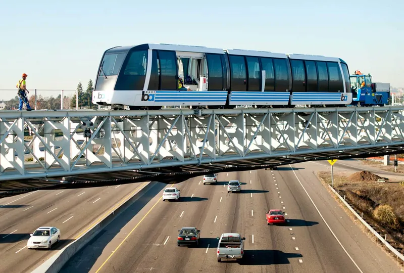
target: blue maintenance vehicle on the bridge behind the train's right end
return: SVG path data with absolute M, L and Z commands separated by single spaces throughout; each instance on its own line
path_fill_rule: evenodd
M 356 70 L 349 75 L 353 106 L 384 106 L 390 97 L 390 83 L 372 82 L 370 74 Z

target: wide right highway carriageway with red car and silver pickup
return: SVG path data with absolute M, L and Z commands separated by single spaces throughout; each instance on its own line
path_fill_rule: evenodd
M 61 272 L 399 272 L 320 184 L 312 162 L 220 173 L 218 185 L 202 177 L 177 184 L 179 201 L 162 191 L 139 211 L 136 204 L 110 224 Z M 227 193 L 238 179 L 241 193 Z M 169 187 L 171 185 L 168 185 Z M 268 226 L 265 212 L 287 213 L 284 226 Z M 201 231 L 199 247 L 177 247 L 182 226 Z M 240 233 L 242 262 L 216 259 L 216 237 Z

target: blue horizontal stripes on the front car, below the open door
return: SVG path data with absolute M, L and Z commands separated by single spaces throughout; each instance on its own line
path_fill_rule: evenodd
M 156 91 L 155 102 L 221 102 L 226 103 L 226 91 Z

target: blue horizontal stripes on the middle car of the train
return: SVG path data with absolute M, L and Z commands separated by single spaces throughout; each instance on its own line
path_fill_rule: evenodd
M 242 92 L 233 91 L 230 93 L 232 102 L 289 102 L 288 92 Z

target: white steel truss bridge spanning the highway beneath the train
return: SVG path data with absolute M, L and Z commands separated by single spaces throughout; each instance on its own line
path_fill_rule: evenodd
M 182 181 L 202 171 L 394 154 L 404 149 L 403 111 L 2 111 L 0 191 Z

